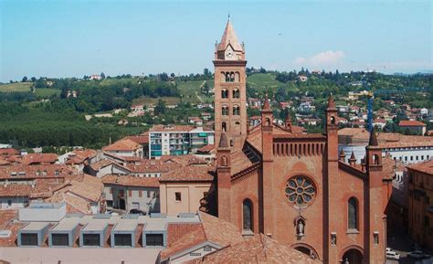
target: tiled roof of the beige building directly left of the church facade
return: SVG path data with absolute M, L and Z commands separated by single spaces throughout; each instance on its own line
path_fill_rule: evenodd
M 167 174 L 163 174 L 160 177 L 160 182 L 211 182 L 214 180 L 215 168 L 207 165 L 189 165 Z

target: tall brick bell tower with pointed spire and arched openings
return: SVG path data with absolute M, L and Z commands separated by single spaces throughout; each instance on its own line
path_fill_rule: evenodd
M 215 45 L 215 134 L 226 132 L 229 142 L 247 136 L 247 78 L 244 45 L 238 42 L 228 17 L 221 41 Z

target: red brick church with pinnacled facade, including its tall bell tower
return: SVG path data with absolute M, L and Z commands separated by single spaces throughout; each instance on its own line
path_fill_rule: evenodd
M 323 133 L 273 121 L 248 127 L 246 53 L 228 20 L 215 50 L 216 215 L 245 237 L 263 233 L 323 263 L 384 263 L 385 175 L 375 132 L 362 164 L 338 153 L 337 110 Z M 209 202 L 208 204 L 212 204 Z

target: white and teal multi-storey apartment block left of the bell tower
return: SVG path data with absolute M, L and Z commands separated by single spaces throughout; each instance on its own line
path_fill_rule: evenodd
M 149 130 L 149 158 L 164 155 L 185 155 L 214 143 L 215 133 L 190 125 L 154 125 Z

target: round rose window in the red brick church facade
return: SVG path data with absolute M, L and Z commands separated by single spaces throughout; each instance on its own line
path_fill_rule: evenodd
M 289 179 L 285 193 L 289 202 L 295 206 L 307 206 L 312 202 L 314 195 L 316 195 L 316 190 L 312 184 L 312 180 L 305 176 L 297 175 Z

